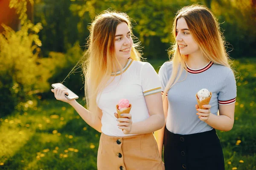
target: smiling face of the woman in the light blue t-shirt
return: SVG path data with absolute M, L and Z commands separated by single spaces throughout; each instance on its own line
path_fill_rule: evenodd
M 183 17 L 180 17 L 177 20 L 176 42 L 178 44 L 180 54 L 191 55 L 200 52 L 198 43 L 195 42 L 192 34 L 190 34 L 186 20 Z

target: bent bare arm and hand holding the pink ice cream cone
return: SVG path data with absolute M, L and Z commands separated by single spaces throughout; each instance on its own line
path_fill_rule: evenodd
M 125 134 L 146 134 L 159 130 L 164 125 L 163 102 L 161 93 L 145 96 L 150 117 L 140 122 L 132 123 L 131 114 L 127 118 L 119 118 L 119 128 Z

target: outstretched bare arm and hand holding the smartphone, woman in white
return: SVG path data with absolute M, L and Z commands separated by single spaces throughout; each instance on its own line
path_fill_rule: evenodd
M 101 118 L 102 118 L 102 111 L 98 108 L 96 113 L 91 113 L 86 108 L 84 108 L 82 105 L 80 105 L 76 100 L 68 100 L 65 97 L 65 94 L 67 94 L 67 91 L 64 88 L 55 88 L 52 89 L 52 92 L 54 93 L 54 96 L 57 100 L 60 100 L 62 102 L 69 103 L 76 111 L 79 113 L 82 119 L 93 127 L 95 130 L 101 132 Z

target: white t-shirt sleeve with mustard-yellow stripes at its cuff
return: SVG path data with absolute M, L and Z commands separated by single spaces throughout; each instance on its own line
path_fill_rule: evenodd
M 146 62 L 140 72 L 141 86 L 144 96 L 161 92 L 160 78 L 153 66 Z

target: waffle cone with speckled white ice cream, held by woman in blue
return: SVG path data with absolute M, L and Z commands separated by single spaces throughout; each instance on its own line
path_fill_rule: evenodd
M 211 98 L 212 98 L 212 92 L 209 92 L 206 88 L 201 89 L 200 91 L 195 94 L 196 100 L 198 102 L 198 107 L 200 109 L 202 108 L 202 105 L 208 105 Z

